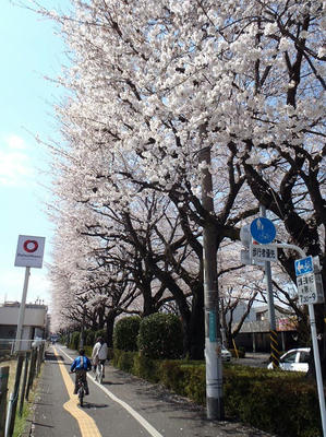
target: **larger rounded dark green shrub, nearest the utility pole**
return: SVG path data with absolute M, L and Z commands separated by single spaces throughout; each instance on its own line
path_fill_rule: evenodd
M 154 359 L 180 358 L 182 355 L 182 326 L 171 314 L 153 314 L 141 321 L 138 351 Z

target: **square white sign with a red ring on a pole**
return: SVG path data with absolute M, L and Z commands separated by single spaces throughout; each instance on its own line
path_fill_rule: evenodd
M 19 236 L 15 267 L 41 268 L 45 237 Z

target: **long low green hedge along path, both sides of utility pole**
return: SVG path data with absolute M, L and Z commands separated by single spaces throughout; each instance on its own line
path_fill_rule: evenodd
M 156 361 L 114 350 L 113 365 L 198 404 L 206 403 L 205 364 Z M 300 374 L 225 364 L 224 401 L 228 418 L 279 437 L 322 435 L 317 389 Z

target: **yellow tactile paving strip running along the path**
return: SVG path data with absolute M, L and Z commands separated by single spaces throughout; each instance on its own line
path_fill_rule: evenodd
M 56 347 L 53 347 L 53 351 L 55 355 L 59 356 Z M 77 397 L 73 394 L 74 383 L 64 367 L 63 361 L 58 361 L 58 363 L 70 397 L 70 400 L 63 404 L 64 410 L 77 421 L 82 437 L 101 437 L 95 421 L 77 406 Z

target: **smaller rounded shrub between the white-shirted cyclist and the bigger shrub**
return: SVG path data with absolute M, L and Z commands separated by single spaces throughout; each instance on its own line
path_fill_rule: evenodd
M 124 317 L 114 324 L 113 346 L 120 351 L 136 351 L 141 318 L 138 316 Z

